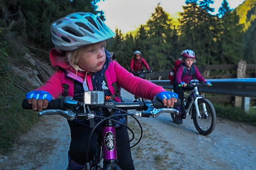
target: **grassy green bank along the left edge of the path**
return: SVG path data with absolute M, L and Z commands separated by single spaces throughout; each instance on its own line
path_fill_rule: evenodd
M 21 108 L 25 92 L 13 82 L 22 78 L 13 74 L 7 42 L 0 40 L 0 155 L 5 155 L 19 135 L 27 132 L 39 117 L 34 111 Z

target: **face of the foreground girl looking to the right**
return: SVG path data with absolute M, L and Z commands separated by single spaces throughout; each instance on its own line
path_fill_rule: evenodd
M 82 48 L 77 65 L 82 69 L 96 73 L 102 69 L 106 60 L 105 41 L 90 44 Z

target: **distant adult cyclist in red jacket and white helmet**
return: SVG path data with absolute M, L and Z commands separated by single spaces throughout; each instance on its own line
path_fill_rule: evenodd
M 134 51 L 133 58 L 130 64 L 130 70 L 134 74 L 136 71 L 141 71 L 143 65 L 147 68 L 148 73 L 151 73 L 151 69 L 148 66 L 146 60 L 141 57 L 141 52 L 139 50 Z

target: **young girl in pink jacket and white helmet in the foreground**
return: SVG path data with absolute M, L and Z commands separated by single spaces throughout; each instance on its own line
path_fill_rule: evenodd
M 115 33 L 97 15 L 84 12 L 69 14 L 52 23 L 51 33 L 55 48 L 50 50 L 49 57 L 52 65 L 59 68 L 43 86 L 26 94 L 33 110 L 46 108 L 52 97 L 60 95 L 83 101 L 83 92 L 87 90 L 103 90 L 106 97 L 121 102 L 121 87 L 143 98 L 152 100 L 156 97 L 167 107 L 173 107 L 177 101 L 177 94 L 133 76 L 110 59 L 109 52 L 105 50 L 106 39 L 112 38 Z M 101 111 L 94 114 L 102 116 Z M 124 117 L 117 117 L 116 120 L 125 122 Z M 99 121 L 94 119 L 95 123 Z M 92 124 L 86 119 L 68 120 L 68 124 L 71 134 L 68 169 L 82 169 L 86 163 L 86 146 Z M 117 145 L 129 141 L 127 129 L 120 124 L 116 126 L 119 126 L 116 128 Z M 89 160 L 93 160 L 100 135 L 101 131 L 95 131 L 92 136 Z M 135 169 L 131 151 L 127 149 L 129 146 L 128 143 L 120 147 L 126 149 L 117 150 L 118 165 L 123 170 Z

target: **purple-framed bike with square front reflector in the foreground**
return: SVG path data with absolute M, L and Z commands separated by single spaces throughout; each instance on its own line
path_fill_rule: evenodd
M 180 99 L 175 103 L 174 107 L 181 105 Z M 79 112 L 77 108 L 83 108 L 83 112 Z M 32 109 L 31 104 L 28 104 L 26 99 L 22 102 L 23 109 Z M 161 109 L 160 109 L 161 108 Z M 103 110 L 103 116 L 97 116 L 93 114 L 94 110 Z M 124 110 L 136 109 L 138 112 L 128 113 Z M 115 110 L 121 110 L 126 114 L 115 114 Z M 50 101 L 48 108 L 38 113 L 39 117 L 43 115 L 58 114 L 65 117 L 68 120 L 74 120 L 75 118 L 82 119 L 94 119 L 95 117 L 102 118 L 102 120 L 95 125 L 89 136 L 89 142 L 87 145 L 86 167 L 83 170 L 121 170 L 117 165 L 117 149 L 116 149 L 116 135 L 115 135 L 115 122 L 117 120 L 112 119 L 118 116 L 132 116 L 141 128 L 140 139 L 132 146 L 136 146 L 142 138 L 142 126 L 136 117 L 156 117 L 161 113 L 176 113 L 178 112 L 172 108 L 166 108 L 159 100 L 154 101 L 139 101 L 136 100 L 133 103 L 117 103 L 110 98 L 105 100 L 103 91 L 85 91 L 84 102 L 75 101 L 72 97 L 66 96 L 60 99 Z M 128 128 L 132 133 L 134 139 L 134 132 L 125 124 L 118 122 L 119 124 Z M 102 125 L 102 141 L 98 142 L 99 153 L 94 157 L 93 161 L 88 160 L 89 143 L 95 129 Z M 122 144 L 123 145 L 123 144 Z M 131 148 L 132 148 L 131 147 Z

